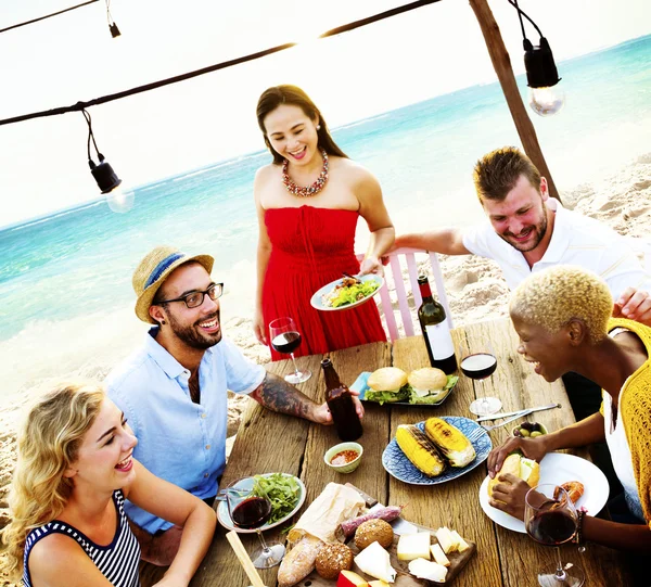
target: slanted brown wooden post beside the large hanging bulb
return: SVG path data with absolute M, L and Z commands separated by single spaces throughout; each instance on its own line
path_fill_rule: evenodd
M 480 22 L 480 27 L 482 28 L 484 40 L 486 41 L 486 47 L 490 54 L 493 67 L 495 68 L 499 84 L 505 92 L 505 98 L 507 99 L 507 104 L 509 104 L 509 110 L 511 111 L 511 116 L 513 117 L 513 123 L 515 123 L 515 128 L 518 129 L 518 135 L 522 141 L 524 151 L 534 162 L 534 165 L 538 168 L 540 175 L 547 178 L 549 195 L 556 197 L 560 202 L 561 199 L 559 197 L 559 192 L 556 189 L 551 174 L 547 167 L 545 157 L 542 156 L 540 144 L 538 143 L 536 129 L 526 113 L 520 91 L 518 90 L 515 76 L 513 75 L 513 69 L 511 67 L 511 58 L 505 47 L 505 41 L 501 38 L 499 26 L 497 26 L 495 16 L 493 16 L 488 1 L 469 0 L 469 2 Z M 515 12 L 513 12 L 513 18 L 515 25 Z

